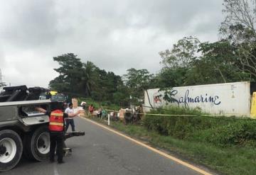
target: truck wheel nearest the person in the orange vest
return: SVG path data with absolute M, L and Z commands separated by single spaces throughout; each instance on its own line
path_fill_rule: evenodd
M 25 136 L 24 154 L 28 159 L 41 162 L 48 158 L 49 152 L 50 134 L 46 125 Z

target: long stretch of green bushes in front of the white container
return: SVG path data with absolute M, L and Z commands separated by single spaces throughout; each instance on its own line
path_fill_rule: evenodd
M 157 109 L 151 113 L 174 114 L 173 116 L 145 116 L 146 128 L 155 130 L 161 135 L 169 135 L 181 140 L 210 142 L 221 147 L 256 145 L 256 120 L 206 117 L 202 116 L 201 111 L 186 108 Z M 179 116 L 178 114 L 193 114 L 194 116 Z

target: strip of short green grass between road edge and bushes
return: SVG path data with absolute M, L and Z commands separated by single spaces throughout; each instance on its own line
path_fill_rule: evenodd
M 102 120 L 93 118 L 98 122 Z M 106 123 L 105 123 L 106 124 Z M 169 135 L 161 135 L 154 130 L 148 130 L 144 125 L 124 125 L 117 121 L 111 121 L 110 126 L 127 135 L 148 141 L 154 147 L 160 147 L 178 154 L 178 157 L 186 157 L 188 161 L 204 164 L 210 169 L 215 169 L 222 174 L 255 174 L 256 149 L 255 147 L 230 146 L 222 147 L 210 142 L 200 142 L 198 138 L 181 140 Z

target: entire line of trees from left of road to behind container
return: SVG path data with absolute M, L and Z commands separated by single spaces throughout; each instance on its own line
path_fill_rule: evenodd
M 108 103 L 142 103 L 144 90 L 198 84 L 256 81 L 255 1 L 224 0 L 225 20 L 220 39 L 214 43 L 185 37 L 159 52 L 158 74 L 147 69 L 128 69 L 122 77 L 100 69 L 90 61 L 81 62 L 73 53 L 53 57 L 60 75 L 50 89 L 70 96 L 91 97 Z

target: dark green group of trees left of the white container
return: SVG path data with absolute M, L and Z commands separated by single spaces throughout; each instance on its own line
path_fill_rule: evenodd
M 156 86 L 154 74 L 146 69 L 131 68 L 120 77 L 90 61 L 81 62 L 73 53 L 53 57 L 53 60 L 60 65 L 55 69 L 59 76 L 50 81 L 49 87 L 68 96 L 127 106 L 130 102 L 142 103 L 144 90 Z

